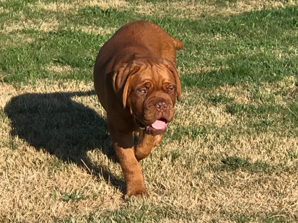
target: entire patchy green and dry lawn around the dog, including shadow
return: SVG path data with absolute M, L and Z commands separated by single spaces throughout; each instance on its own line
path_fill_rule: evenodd
M 0 1 L 0 222 L 297 222 L 297 1 Z M 180 39 L 182 98 L 122 170 L 93 90 L 100 47 L 152 21 Z

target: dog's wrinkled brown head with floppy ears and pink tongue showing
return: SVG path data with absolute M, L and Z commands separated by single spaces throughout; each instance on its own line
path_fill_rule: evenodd
M 149 134 L 164 133 L 181 95 L 173 63 L 165 58 L 140 58 L 120 68 L 113 78 L 115 92 L 137 125 Z

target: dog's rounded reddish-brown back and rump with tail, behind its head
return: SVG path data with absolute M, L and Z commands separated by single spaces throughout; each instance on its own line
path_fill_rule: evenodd
M 100 49 L 95 65 L 106 65 L 113 57 L 125 58 L 129 62 L 143 56 L 156 56 L 169 59 L 176 65 L 176 50 L 183 48 L 180 40 L 171 37 L 161 27 L 148 21 L 133 21 L 122 26 Z M 137 54 L 137 55 L 136 55 Z M 148 55 L 149 54 L 149 55 Z M 116 62 L 116 61 L 115 61 Z M 119 61 L 117 61 L 119 63 Z M 108 70 L 107 70 L 108 71 Z M 107 72 L 108 73 L 108 72 Z

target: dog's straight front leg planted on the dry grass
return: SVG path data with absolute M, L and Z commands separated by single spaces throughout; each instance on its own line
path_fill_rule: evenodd
M 123 171 L 126 184 L 125 195 L 149 197 L 145 188 L 141 165 L 134 155 L 133 132 L 123 133 L 121 131 L 113 130 L 113 128 L 109 128 L 109 132 Z

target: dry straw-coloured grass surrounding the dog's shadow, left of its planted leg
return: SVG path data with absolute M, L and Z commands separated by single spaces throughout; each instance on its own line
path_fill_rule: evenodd
M 75 83 L 51 86 L 38 83 L 36 86 L 38 87 L 23 86 L 20 90 L 16 90 L 9 84 L 1 84 L 0 109 L 2 113 L 9 100 L 17 95 L 74 90 L 88 91 L 92 88 L 91 84 Z M 97 103 L 97 98 L 94 95 L 85 97 L 84 100 L 89 101 L 90 104 Z M 35 101 L 35 103 L 39 103 L 39 101 Z M 98 106 L 97 108 L 100 109 Z M 80 215 L 107 207 L 109 209 L 118 208 L 122 204 L 122 195 L 119 190 L 109 185 L 102 176 L 90 174 L 86 169 L 74 163 L 60 162 L 57 157 L 49 155 L 43 150 L 37 151 L 24 139 L 20 139 L 18 136 L 12 137 L 10 135 L 11 126 L 12 123 L 8 118 L 1 119 L 0 212 L 2 217 L 12 218 L 16 221 L 44 221 L 48 218 L 47 216 L 58 217 L 68 215 L 68 213 Z M 15 149 L 12 149 L 11 145 Z M 96 160 L 101 160 L 103 165 L 109 165 L 111 162 L 106 156 L 98 156 L 94 151 L 89 151 L 87 156 L 96 157 Z M 119 165 L 114 168 L 118 169 L 118 172 L 121 170 Z M 50 174 L 50 172 L 54 172 L 54 174 Z M 53 198 L 53 189 L 57 191 L 57 200 Z M 72 194 L 74 191 L 77 191 L 80 196 L 89 197 L 89 199 L 81 200 L 79 204 L 59 200 L 65 192 Z M 98 194 L 100 195 L 97 196 Z

